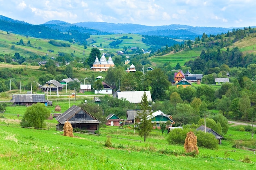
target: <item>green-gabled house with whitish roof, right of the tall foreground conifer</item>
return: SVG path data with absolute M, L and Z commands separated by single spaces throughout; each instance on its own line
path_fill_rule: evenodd
M 153 129 L 161 129 L 160 124 L 166 123 L 168 120 L 171 122 L 171 124 L 175 123 L 173 120 L 171 120 L 170 115 L 164 114 L 161 110 L 155 111 L 154 113 L 152 113 L 152 117 L 148 118 L 151 119 Z

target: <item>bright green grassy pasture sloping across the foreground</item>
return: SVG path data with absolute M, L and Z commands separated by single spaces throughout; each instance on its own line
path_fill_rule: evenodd
M 78 101 L 79 102 L 79 101 Z M 81 100 L 80 100 L 81 102 Z M 68 102 L 58 101 L 63 108 Z M 53 107 L 47 107 L 52 110 Z M 233 148 L 235 140 L 251 140 L 249 132 L 230 125 L 218 150 L 199 148 L 198 155 L 184 153 L 182 145 L 169 145 L 165 131 L 153 130 L 146 142 L 128 126 L 102 126 L 100 136 L 56 131 L 56 120 L 47 120 L 47 129 L 25 129 L 19 121 L 26 107 L 7 107 L 0 113 L 0 169 L 254 169 L 256 155 Z M 16 114 L 20 113 L 17 118 Z M 58 133 L 59 132 L 59 133 Z M 104 146 L 110 140 L 111 146 Z M 255 139 L 253 139 L 255 140 Z M 252 163 L 242 162 L 243 160 Z

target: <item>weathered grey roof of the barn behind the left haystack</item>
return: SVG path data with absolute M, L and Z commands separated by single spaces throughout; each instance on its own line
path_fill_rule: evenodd
M 79 113 L 79 111 L 85 112 L 90 120 L 77 120 L 77 121 L 70 121 L 70 119 L 75 116 L 76 113 Z M 97 118 L 92 116 L 90 113 L 85 111 L 83 108 L 73 105 L 69 109 L 67 109 L 64 113 L 62 113 L 60 116 L 56 118 L 56 120 L 61 123 L 65 124 L 66 121 L 69 121 L 71 124 L 74 123 L 101 123 Z

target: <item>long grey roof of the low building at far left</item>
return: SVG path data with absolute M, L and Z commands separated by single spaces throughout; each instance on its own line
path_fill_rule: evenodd
M 44 94 L 13 94 L 11 102 L 47 102 Z

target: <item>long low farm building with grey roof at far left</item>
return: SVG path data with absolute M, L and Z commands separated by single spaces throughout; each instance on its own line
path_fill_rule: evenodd
M 44 103 L 45 106 L 52 106 L 52 101 L 45 100 L 45 94 L 13 94 L 10 100 L 13 105 L 33 105 L 38 102 Z

